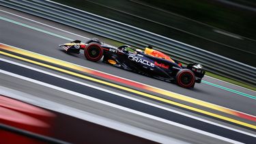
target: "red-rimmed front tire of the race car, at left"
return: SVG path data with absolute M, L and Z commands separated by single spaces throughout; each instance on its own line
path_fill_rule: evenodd
M 85 48 L 85 58 L 89 61 L 99 61 L 103 55 L 103 48 L 100 44 L 92 42 Z

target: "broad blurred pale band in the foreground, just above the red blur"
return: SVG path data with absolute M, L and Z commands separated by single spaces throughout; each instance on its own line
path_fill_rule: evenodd
M 53 102 L 51 100 L 31 96 L 29 93 L 23 93 L 22 91 L 16 91 L 14 89 L 10 89 L 7 87 L 1 87 L 1 85 L 0 90 L 0 94 L 2 94 L 3 96 L 8 96 L 9 98 L 14 98 L 16 100 L 27 102 L 35 106 L 40 106 L 44 109 L 56 111 L 58 113 L 63 113 L 65 115 L 70 115 L 78 119 L 90 121 L 94 124 L 105 126 L 106 128 L 112 128 L 114 130 L 126 132 L 134 136 L 140 136 L 144 139 L 149 139 L 151 141 L 156 141 L 158 143 L 170 143 L 171 141 L 171 143 L 173 144 L 188 144 L 182 140 L 178 140 L 170 136 L 165 136 L 163 134 L 158 134 L 157 132 L 144 130 L 143 128 L 137 128 L 136 126 L 131 126 L 121 121 L 116 121 L 114 119 L 109 119 L 101 115 L 96 115 L 94 113 L 82 111 L 80 109 L 76 109 L 71 106 L 66 106 L 64 104 Z

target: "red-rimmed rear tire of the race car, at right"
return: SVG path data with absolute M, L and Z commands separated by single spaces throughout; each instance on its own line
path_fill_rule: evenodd
M 188 69 L 182 69 L 176 74 L 176 83 L 180 87 L 194 87 L 195 86 L 195 74 Z

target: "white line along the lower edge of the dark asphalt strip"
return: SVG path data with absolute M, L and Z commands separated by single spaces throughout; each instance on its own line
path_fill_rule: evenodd
M 203 134 L 203 135 L 206 135 L 206 136 L 211 136 L 211 137 L 213 137 L 213 138 L 215 138 L 215 139 L 220 139 L 220 140 L 222 140 L 222 141 L 227 141 L 227 142 L 229 142 L 229 143 L 240 143 L 239 141 L 234 141 L 234 140 L 232 140 L 232 139 L 227 139 L 227 138 L 225 138 L 225 137 L 223 137 L 223 136 L 218 136 L 218 135 L 216 135 L 216 134 L 212 134 L 212 133 L 210 133 L 210 132 L 205 132 L 205 131 L 199 130 L 199 129 L 197 129 L 197 128 L 192 128 L 192 127 L 189 127 L 189 126 L 185 126 L 185 125 L 183 125 L 183 124 L 179 124 L 179 123 L 176 123 L 176 122 L 174 122 L 174 121 L 169 121 L 169 120 L 167 120 L 167 119 L 162 119 L 162 118 L 160 118 L 160 117 L 156 117 L 156 116 L 154 116 L 154 115 L 149 115 L 149 114 L 147 114 L 147 113 L 142 113 L 142 112 L 140 112 L 140 111 L 135 111 L 135 110 L 133 110 L 133 109 L 128 109 L 128 108 L 126 108 L 126 107 L 124 107 L 124 106 L 119 106 L 119 105 L 113 104 L 113 103 L 111 103 L 111 102 L 106 102 L 106 101 L 103 101 L 103 100 L 99 100 L 99 99 L 97 99 L 97 98 L 92 98 L 92 97 L 87 96 L 87 95 L 84 95 L 84 94 L 82 94 L 82 93 L 77 93 L 77 92 L 75 92 L 75 91 L 70 91 L 70 90 L 68 90 L 68 89 L 63 89 L 63 88 L 57 87 L 57 86 L 55 86 L 55 85 L 50 85 L 50 84 L 48 84 L 48 83 L 43 83 L 43 82 L 41 82 L 41 81 L 36 81 L 36 80 L 34 80 L 34 79 L 32 79 L 32 78 L 27 78 L 27 77 L 25 77 L 25 76 L 20 76 L 20 75 L 18 75 L 18 74 L 14 74 L 14 73 L 12 73 L 12 72 L 7 72 L 7 71 L 5 71 L 5 70 L 0 70 L 0 73 L 2 73 L 2 74 L 7 74 L 7 75 L 9 75 L 9 76 L 14 76 L 14 77 L 16 77 L 16 78 L 20 78 L 20 79 L 23 79 L 23 80 L 25 80 L 25 81 L 29 81 L 29 82 L 31 82 L 31 83 L 35 83 L 35 84 L 38 84 L 38 85 L 43 85 L 44 87 L 49 87 L 49 88 L 51 88 L 51 89 L 56 89 L 56 90 L 58 90 L 58 91 L 63 91 L 63 92 L 65 92 L 65 93 L 72 94 L 73 96 L 77 96 L 77 97 L 80 97 L 80 98 L 85 98 L 85 99 L 87 99 L 87 100 L 91 100 L 91 101 L 94 101 L 94 102 L 98 102 L 98 103 L 100 103 L 100 104 L 105 104 L 105 105 L 111 106 L 111 107 L 113 107 L 113 108 L 115 108 L 115 109 L 120 109 L 120 110 L 122 110 L 122 111 L 127 111 L 127 112 L 129 112 L 129 113 L 134 113 L 134 114 L 136 114 L 136 115 L 141 115 L 141 116 L 143 116 L 143 117 L 147 117 L 147 118 L 149 118 L 149 119 L 154 119 L 154 120 L 156 120 L 156 121 L 160 121 L 160 122 L 163 122 L 163 123 L 165 123 L 165 124 L 170 124 L 170 125 L 172 125 L 172 126 L 177 126 L 177 127 L 179 127 L 179 128 L 184 128 L 184 129 L 186 129 L 186 130 L 190 130 L 190 131 L 193 131 L 193 132 L 197 132 L 197 133 L 199 133 L 199 134 Z

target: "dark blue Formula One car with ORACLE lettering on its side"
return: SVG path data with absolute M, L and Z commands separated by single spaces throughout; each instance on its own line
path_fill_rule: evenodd
M 141 51 L 128 45 L 115 47 L 104 44 L 97 38 L 85 43 L 75 40 L 59 46 L 67 53 L 80 53 L 83 49 L 89 61 L 99 61 L 103 57 L 105 63 L 163 81 L 174 81 L 180 87 L 194 87 L 195 83 L 201 83 L 205 74 L 200 64 L 190 63 L 188 66 L 182 66 L 181 63 L 150 46 Z

